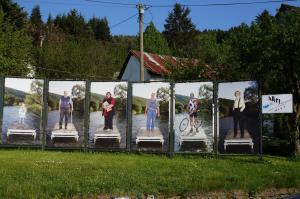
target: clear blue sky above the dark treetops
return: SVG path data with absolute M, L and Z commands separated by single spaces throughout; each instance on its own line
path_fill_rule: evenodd
M 103 5 L 85 0 L 15 0 L 21 7 L 31 13 L 35 5 L 40 5 L 42 17 L 47 19 L 49 13 L 52 16 L 67 13 L 70 9 L 77 9 L 85 18 L 107 17 L 109 25 L 112 26 L 137 13 L 136 8 L 118 7 L 114 5 Z M 144 4 L 168 4 L 173 5 L 178 2 L 181 4 L 207 4 L 207 3 L 232 3 L 249 2 L 253 0 L 107 0 L 111 2 L 133 3 L 142 2 Z M 267 1 L 267 0 L 261 0 Z M 290 5 L 300 6 L 300 1 L 289 2 Z M 229 29 L 242 22 L 250 24 L 263 10 L 268 10 L 275 14 L 280 7 L 280 3 L 255 4 L 255 5 L 236 5 L 236 6 L 217 6 L 217 7 L 191 7 L 191 18 L 199 30 L 204 29 Z M 172 8 L 151 8 L 145 12 L 145 23 L 151 20 L 156 27 L 162 31 L 165 19 Z M 138 33 L 137 16 L 131 20 L 116 26 L 111 30 L 113 35 L 136 35 Z

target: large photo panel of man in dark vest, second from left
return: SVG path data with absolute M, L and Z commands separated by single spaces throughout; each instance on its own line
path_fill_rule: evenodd
M 46 145 L 84 146 L 84 81 L 49 81 Z

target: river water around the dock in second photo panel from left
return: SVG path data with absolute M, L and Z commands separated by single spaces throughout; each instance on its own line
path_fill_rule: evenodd
M 70 119 L 70 117 L 69 117 Z M 69 121 L 70 122 L 70 121 Z M 75 141 L 74 138 L 54 138 L 51 141 L 51 132 L 56 123 L 59 123 L 59 111 L 49 111 L 47 128 L 46 128 L 46 145 L 48 147 L 83 147 L 84 146 L 84 116 L 78 111 L 73 111 L 72 122 L 78 131 L 79 140 Z M 63 122 L 64 127 L 64 122 Z

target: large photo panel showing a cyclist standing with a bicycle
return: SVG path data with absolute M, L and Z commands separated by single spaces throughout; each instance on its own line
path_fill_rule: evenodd
M 174 150 L 213 152 L 213 83 L 176 83 L 174 100 Z

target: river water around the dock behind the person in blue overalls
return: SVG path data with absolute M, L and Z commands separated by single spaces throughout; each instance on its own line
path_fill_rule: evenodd
M 145 114 L 132 115 L 132 137 L 131 146 L 133 150 L 143 151 L 168 151 L 169 147 L 169 117 L 161 115 L 156 117 L 155 127 L 158 127 L 164 138 L 164 145 L 162 146 L 159 142 L 139 143 L 136 145 L 136 136 L 138 130 L 142 127 L 146 127 L 147 116 Z

